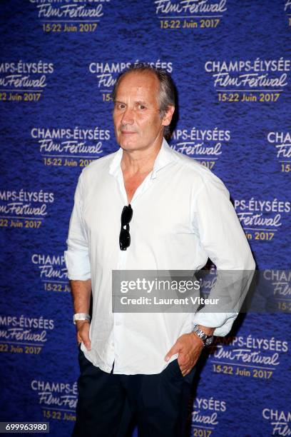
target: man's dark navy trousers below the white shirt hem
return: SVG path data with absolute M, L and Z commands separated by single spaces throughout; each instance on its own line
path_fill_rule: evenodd
M 155 375 L 117 375 L 93 366 L 81 350 L 78 359 L 81 375 L 73 437 L 121 437 L 126 399 L 138 437 L 188 436 L 195 368 L 183 377 L 175 360 Z

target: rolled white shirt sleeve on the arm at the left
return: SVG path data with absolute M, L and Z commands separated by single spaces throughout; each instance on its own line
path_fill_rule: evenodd
M 66 243 L 68 249 L 65 251 L 64 256 L 68 270 L 68 278 L 79 281 L 90 279 L 91 265 L 86 228 L 83 221 L 82 174 L 78 179 Z

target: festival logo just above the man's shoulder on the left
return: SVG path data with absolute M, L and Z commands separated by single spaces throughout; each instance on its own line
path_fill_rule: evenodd
M 95 126 L 80 128 L 31 129 L 31 138 L 36 141 L 45 166 L 85 167 L 102 156 L 111 134 L 109 129 Z

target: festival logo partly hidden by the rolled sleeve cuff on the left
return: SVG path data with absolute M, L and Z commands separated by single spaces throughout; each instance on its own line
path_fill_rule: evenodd
M 33 253 L 31 263 L 37 268 L 45 291 L 70 292 L 63 254 Z

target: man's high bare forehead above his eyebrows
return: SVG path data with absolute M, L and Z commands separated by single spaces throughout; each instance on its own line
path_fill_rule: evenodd
M 147 99 L 158 99 L 159 81 L 150 71 L 131 71 L 118 84 L 116 99 L 124 94 L 144 96 Z

